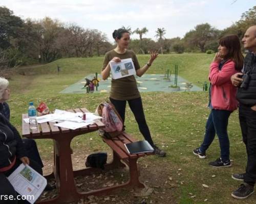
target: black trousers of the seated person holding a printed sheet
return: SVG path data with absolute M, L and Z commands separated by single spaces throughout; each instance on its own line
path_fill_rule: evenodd
M 38 165 L 36 162 L 34 162 L 33 160 L 29 160 L 30 161 L 30 166 L 35 169 L 38 173 L 42 174 L 42 169 L 40 167 L 40 165 Z M 18 159 L 16 160 L 16 163 L 14 164 L 14 166 L 5 172 L 0 172 L 0 196 L 1 195 L 8 195 L 8 196 L 13 196 L 13 198 L 16 198 L 16 196 L 18 195 L 17 192 L 14 190 L 13 186 L 11 185 L 11 183 L 8 181 L 7 177 L 16 169 L 18 168 L 18 166 L 21 164 L 22 162 L 20 162 Z M 4 200 L 4 198 L 1 199 L 0 197 L 0 204 L 29 204 L 30 202 L 27 200 Z

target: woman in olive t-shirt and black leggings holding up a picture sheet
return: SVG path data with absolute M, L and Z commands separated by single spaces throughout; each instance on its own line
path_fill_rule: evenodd
M 135 53 L 132 50 L 127 49 L 130 43 L 129 31 L 125 29 L 115 30 L 113 33 L 113 38 L 117 42 L 117 47 L 105 54 L 101 71 L 103 80 L 106 80 L 110 75 L 110 61 L 120 62 L 122 59 L 132 58 L 136 69 L 136 74 L 137 76 L 141 77 L 158 56 L 156 52 L 151 53 L 150 60 L 143 67 L 140 68 Z M 114 104 L 117 112 L 123 119 L 123 122 L 125 119 L 126 101 L 128 101 L 128 104 L 139 125 L 139 130 L 141 134 L 143 135 L 145 140 L 147 140 L 155 149 L 155 154 L 160 157 L 164 157 L 166 153 L 154 144 L 150 134 L 150 130 L 148 129 L 148 126 L 146 124 L 142 101 L 134 75 L 116 80 L 112 79 L 110 101 L 112 104 Z

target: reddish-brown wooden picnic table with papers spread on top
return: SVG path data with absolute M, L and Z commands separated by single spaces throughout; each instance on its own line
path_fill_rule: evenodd
M 77 108 L 67 110 L 70 112 L 89 112 L 86 108 Z M 28 114 L 23 114 L 22 118 L 28 118 Z M 53 139 L 54 141 L 54 165 L 53 172 L 46 176 L 47 179 L 55 177 L 58 196 L 50 199 L 39 201 L 38 203 L 61 204 L 78 201 L 80 198 L 88 195 L 102 194 L 106 188 L 90 191 L 86 193 L 77 192 L 74 177 L 78 175 L 86 175 L 92 171 L 92 168 L 85 168 L 73 171 L 71 160 L 70 144 L 74 137 L 82 134 L 97 131 L 105 125 L 96 120 L 94 124 L 82 127 L 76 130 L 70 130 L 63 127 L 55 126 L 56 122 L 45 122 L 38 124 L 37 129 L 30 130 L 29 123 L 22 120 L 22 135 L 31 139 Z

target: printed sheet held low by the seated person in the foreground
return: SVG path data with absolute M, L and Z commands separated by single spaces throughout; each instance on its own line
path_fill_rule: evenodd
M 33 204 L 44 191 L 47 180 L 29 165 L 20 164 L 7 178 L 16 192 Z

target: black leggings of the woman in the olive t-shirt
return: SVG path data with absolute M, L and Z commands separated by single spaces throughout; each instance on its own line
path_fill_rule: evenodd
M 124 123 L 126 100 L 116 100 L 116 99 L 110 98 L 110 101 L 115 106 L 117 112 L 123 119 L 123 123 Z M 148 126 L 146 124 L 141 97 L 127 100 L 127 101 L 139 125 L 141 134 L 143 135 L 145 140 L 148 141 L 154 147 L 155 145 L 152 140 L 150 130 L 148 129 Z

